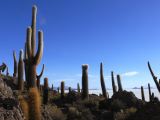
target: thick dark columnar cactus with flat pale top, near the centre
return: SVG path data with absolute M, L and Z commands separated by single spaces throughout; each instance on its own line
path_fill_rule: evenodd
M 82 99 L 88 99 L 88 65 L 82 65 Z

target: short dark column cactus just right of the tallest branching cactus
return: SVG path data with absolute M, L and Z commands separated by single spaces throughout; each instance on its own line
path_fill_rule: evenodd
M 43 88 L 43 104 L 48 103 L 48 78 L 44 78 L 44 88 Z

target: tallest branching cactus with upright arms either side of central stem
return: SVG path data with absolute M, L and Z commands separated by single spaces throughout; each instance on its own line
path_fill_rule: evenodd
M 27 55 L 28 55 L 28 81 L 29 87 L 36 87 L 36 68 L 43 54 L 43 32 L 38 32 L 38 50 L 36 49 L 36 14 L 37 7 L 32 8 L 32 25 L 27 28 Z

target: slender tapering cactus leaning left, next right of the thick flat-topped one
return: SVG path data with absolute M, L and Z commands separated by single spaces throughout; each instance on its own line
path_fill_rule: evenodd
M 107 92 L 106 92 L 106 86 L 104 82 L 104 76 L 103 76 L 103 64 L 100 64 L 100 82 L 101 82 L 101 88 L 102 88 L 102 94 L 104 98 L 107 98 Z

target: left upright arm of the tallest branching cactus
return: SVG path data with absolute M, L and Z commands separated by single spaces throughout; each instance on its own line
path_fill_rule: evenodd
M 28 58 L 32 57 L 31 36 L 32 36 L 32 29 L 28 27 L 27 28 L 27 55 L 28 55 Z

